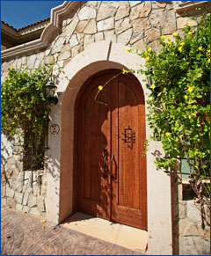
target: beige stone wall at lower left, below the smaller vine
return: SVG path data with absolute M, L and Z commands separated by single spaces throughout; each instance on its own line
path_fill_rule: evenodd
M 18 136 L 1 135 L 1 202 L 37 216 L 45 216 L 47 180 L 44 170 L 23 171 L 23 150 Z M 33 181 L 33 182 L 32 182 Z

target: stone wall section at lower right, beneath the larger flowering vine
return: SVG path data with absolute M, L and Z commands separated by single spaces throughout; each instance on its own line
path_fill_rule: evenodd
M 200 215 L 200 203 L 188 180 L 171 176 L 173 252 L 176 255 L 210 254 L 210 209 L 205 208 L 204 229 Z

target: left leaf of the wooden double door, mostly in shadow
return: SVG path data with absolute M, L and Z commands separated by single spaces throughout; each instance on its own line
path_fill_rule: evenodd
M 104 173 L 104 148 L 109 151 L 111 144 L 110 87 L 98 95 L 98 100 L 108 103 L 108 106 L 94 100 L 98 85 L 106 80 L 107 76 L 93 79 L 78 102 L 77 209 L 109 219 L 111 196 L 109 180 Z

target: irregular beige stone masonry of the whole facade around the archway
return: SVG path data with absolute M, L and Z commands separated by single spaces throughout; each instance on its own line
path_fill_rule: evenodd
M 56 63 L 63 69 L 88 45 L 100 40 L 109 40 L 139 51 L 145 46 L 157 51 L 161 34 L 173 40 L 172 33 L 183 33 L 186 24 L 197 24 L 190 15 L 178 12 L 177 8 L 176 1 L 78 2 L 69 14 L 60 19 L 60 30 L 51 37 L 47 48 L 2 61 L 2 82 L 10 66 L 33 70 L 44 63 Z M 55 73 L 57 71 L 55 69 Z M 23 172 L 22 149 L 17 146 L 18 143 L 17 137 L 2 135 L 2 206 L 45 216 L 47 171 L 39 170 L 33 175 L 31 171 Z M 40 179 L 41 182 L 38 182 Z M 178 220 L 175 223 L 179 222 L 179 253 L 189 254 L 194 250 L 197 254 L 207 253 L 209 230 L 207 226 L 207 231 L 200 230 L 198 209 L 193 201 L 179 201 L 178 205 Z

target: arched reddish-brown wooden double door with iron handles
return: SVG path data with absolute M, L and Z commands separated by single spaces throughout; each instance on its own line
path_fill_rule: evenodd
M 77 100 L 76 210 L 147 230 L 143 91 L 133 75 L 119 74 L 91 77 Z

